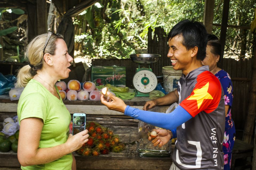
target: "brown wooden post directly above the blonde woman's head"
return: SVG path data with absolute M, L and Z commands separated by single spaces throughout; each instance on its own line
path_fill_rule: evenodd
M 47 8 L 46 1 L 37 0 L 37 33 L 47 32 Z

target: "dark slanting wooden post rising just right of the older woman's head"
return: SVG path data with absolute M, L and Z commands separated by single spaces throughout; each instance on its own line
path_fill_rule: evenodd
M 229 1 L 230 0 L 224 0 L 223 11 L 222 11 L 221 36 L 220 36 L 220 43 L 221 43 L 220 67 L 221 68 L 222 68 L 222 63 L 223 63 L 222 58 L 223 58 L 223 54 L 224 54 L 226 34 L 227 34 L 227 21 L 229 18 Z

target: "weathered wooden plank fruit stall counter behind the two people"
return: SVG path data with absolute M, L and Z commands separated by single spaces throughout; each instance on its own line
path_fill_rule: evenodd
M 125 100 L 127 105 L 142 109 L 148 97 L 135 97 L 132 100 Z M 63 101 L 71 113 L 86 113 L 86 121 L 96 121 L 99 124 L 113 130 L 119 135 L 121 142 L 127 143 L 126 148 L 121 153 L 110 152 L 108 155 L 79 156 L 75 154 L 77 169 L 162 169 L 169 170 L 172 163 L 171 158 L 141 158 L 136 151 L 137 144 L 131 145 L 134 141 L 139 141 L 138 120 L 125 116 L 123 113 L 110 111 L 100 101 Z M 7 117 L 17 115 L 18 101 L 10 101 L 8 97 L 0 96 L 0 128 L 2 121 Z M 155 107 L 152 111 L 165 112 L 169 106 Z M 20 164 L 17 154 L 10 152 L 0 152 L 0 170 L 2 168 L 19 168 Z

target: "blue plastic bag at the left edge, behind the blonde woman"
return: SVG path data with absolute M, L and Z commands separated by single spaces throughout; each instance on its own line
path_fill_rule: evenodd
M 14 82 L 17 78 L 14 75 L 6 75 L 4 76 L 0 73 L 0 95 L 6 94 L 14 87 Z

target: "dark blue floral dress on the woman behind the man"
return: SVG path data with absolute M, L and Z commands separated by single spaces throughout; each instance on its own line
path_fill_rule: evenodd
M 233 102 L 233 85 L 231 82 L 231 78 L 226 71 L 221 70 L 218 73 L 216 73 L 215 76 L 221 82 L 224 91 L 225 105 L 229 105 L 229 110 L 227 111 L 225 121 L 225 133 L 223 140 L 224 169 L 229 170 L 231 166 L 232 149 L 235 142 L 235 125 L 234 121 L 231 118 L 231 106 Z

